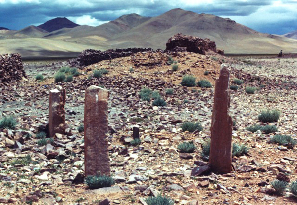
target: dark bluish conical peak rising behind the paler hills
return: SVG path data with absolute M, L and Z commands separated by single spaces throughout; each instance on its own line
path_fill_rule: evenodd
M 76 23 L 73 23 L 66 17 L 63 17 L 63 18 L 58 17 L 58 18 L 51 19 L 51 20 L 47 21 L 46 23 L 39 25 L 38 27 L 43 30 L 46 30 L 48 32 L 52 32 L 52 31 L 59 30 L 62 28 L 74 28 L 77 26 L 79 26 L 79 25 Z

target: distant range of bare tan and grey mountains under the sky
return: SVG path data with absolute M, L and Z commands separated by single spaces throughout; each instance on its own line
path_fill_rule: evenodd
M 229 54 L 276 54 L 280 50 L 297 53 L 295 39 L 263 34 L 229 18 L 182 9 L 173 9 L 156 17 L 123 15 L 96 27 L 55 18 L 38 27 L 0 30 L 0 50 L 19 52 L 23 56 L 71 56 L 87 48 L 165 49 L 167 40 L 177 33 L 209 38 Z

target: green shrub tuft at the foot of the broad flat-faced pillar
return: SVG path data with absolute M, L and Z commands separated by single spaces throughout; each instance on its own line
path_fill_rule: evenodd
M 90 189 L 99 189 L 103 187 L 111 187 L 114 184 L 114 180 L 110 176 L 105 175 L 95 175 L 87 176 L 85 183 Z

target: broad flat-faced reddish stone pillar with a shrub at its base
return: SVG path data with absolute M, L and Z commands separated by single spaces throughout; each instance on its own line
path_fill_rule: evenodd
M 85 176 L 110 175 L 108 157 L 109 91 L 91 85 L 85 93 Z

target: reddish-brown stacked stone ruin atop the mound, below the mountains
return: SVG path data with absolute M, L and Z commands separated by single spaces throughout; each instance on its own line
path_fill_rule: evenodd
M 186 36 L 178 33 L 171 37 L 166 43 L 167 51 L 188 51 L 205 55 L 208 51 L 223 54 L 224 51 L 217 50 L 214 41 L 201 39 L 193 36 Z

